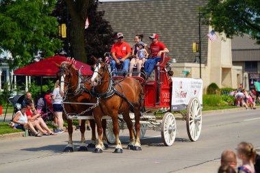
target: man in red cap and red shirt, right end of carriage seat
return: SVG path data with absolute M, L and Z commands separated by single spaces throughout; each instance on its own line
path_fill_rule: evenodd
M 169 53 L 167 47 L 158 41 L 159 36 L 157 34 L 152 34 L 150 37 L 151 44 L 150 44 L 150 58 L 144 62 L 144 71 L 146 75 L 149 77 L 155 65 L 161 61 L 161 57 L 164 56 L 164 53 Z

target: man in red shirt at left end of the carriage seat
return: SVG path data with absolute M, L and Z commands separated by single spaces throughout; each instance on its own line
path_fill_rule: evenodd
M 113 76 L 117 75 L 117 68 L 121 65 L 122 72 L 124 75 L 128 73 L 129 70 L 129 57 L 131 55 L 131 46 L 124 41 L 124 36 L 122 33 L 116 34 L 117 42 L 113 44 L 111 53 L 112 60 L 110 62 L 111 70 L 114 73 Z

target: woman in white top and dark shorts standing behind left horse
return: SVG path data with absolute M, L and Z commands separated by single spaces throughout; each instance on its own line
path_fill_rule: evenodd
M 62 96 L 60 95 L 60 81 L 57 80 L 54 85 L 53 94 L 51 95 L 51 100 L 53 103 L 53 111 L 55 114 L 55 117 L 57 118 L 57 126 L 58 129 L 54 133 L 63 133 L 63 118 L 62 118 L 62 112 L 63 112 L 63 105 L 62 105 Z

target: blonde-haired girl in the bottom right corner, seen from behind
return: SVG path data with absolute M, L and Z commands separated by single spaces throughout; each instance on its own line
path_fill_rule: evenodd
M 237 157 L 242 160 L 242 166 L 239 166 L 238 173 L 255 173 L 254 163 L 257 155 L 252 144 L 240 142 L 237 145 Z

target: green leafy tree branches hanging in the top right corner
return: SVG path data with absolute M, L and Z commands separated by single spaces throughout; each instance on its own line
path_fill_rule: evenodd
M 209 0 L 199 10 L 204 23 L 215 31 L 224 32 L 227 38 L 248 34 L 260 44 L 259 0 Z

